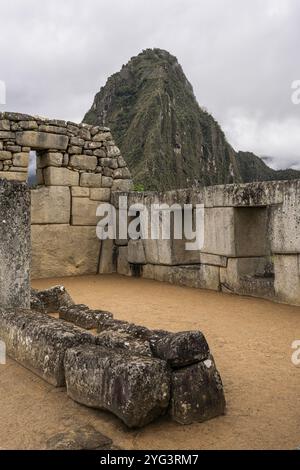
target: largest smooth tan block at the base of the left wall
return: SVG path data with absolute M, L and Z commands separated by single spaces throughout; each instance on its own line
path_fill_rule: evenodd
M 34 279 L 97 274 L 99 253 L 95 227 L 32 226 Z

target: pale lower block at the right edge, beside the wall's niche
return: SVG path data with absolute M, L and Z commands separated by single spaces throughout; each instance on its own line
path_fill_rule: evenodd
M 300 305 L 300 254 L 276 255 L 275 295 L 281 302 Z

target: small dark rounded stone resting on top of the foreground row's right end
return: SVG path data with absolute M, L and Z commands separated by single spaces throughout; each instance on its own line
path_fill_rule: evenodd
M 200 331 L 170 333 L 152 345 L 154 356 L 171 367 L 185 367 L 209 357 L 209 347 Z

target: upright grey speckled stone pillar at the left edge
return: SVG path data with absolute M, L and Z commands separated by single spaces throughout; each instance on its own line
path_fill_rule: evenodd
M 30 192 L 0 179 L 0 306 L 30 306 Z

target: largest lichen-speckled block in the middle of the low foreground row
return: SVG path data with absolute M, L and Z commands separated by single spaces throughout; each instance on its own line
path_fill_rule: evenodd
M 128 427 L 142 427 L 164 414 L 170 373 L 164 361 L 100 346 L 69 349 L 68 395 L 86 406 L 111 411 Z

